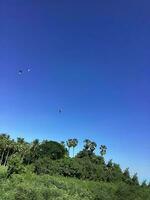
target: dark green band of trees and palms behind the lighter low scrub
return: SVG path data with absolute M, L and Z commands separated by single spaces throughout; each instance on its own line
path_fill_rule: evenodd
M 7 178 L 13 174 L 24 173 L 28 167 L 36 174 L 62 175 L 82 180 L 103 182 L 124 182 L 128 185 L 150 187 L 144 181 L 139 184 L 137 174 L 130 175 L 129 169 L 122 171 L 112 160 L 105 162 L 107 147 L 99 147 L 99 155 L 95 154 L 97 144 L 86 139 L 84 146 L 74 156 L 77 139 L 56 142 L 38 139 L 31 143 L 24 138 L 13 140 L 7 134 L 0 134 L 0 164 L 7 166 Z M 73 157 L 70 157 L 72 148 Z

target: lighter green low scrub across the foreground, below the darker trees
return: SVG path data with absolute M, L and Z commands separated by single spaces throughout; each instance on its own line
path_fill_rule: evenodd
M 149 200 L 150 190 L 126 183 L 21 174 L 0 181 L 1 200 Z

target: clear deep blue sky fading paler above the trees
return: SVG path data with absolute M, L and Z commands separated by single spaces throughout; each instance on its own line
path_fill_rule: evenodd
M 149 0 L 0 0 L 0 132 L 75 137 L 79 147 L 89 138 L 150 180 L 149 8 Z

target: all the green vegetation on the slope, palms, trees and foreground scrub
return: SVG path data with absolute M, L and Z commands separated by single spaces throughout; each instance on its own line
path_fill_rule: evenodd
M 150 184 L 139 184 L 137 174 L 112 160 L 105 162 L 105 145 L 96 155 L 97 144 L 86 139 L 74 156 L 77 145 L 77 139 L 28 143 L 0 134 L 0 199 L 150 200 Z

